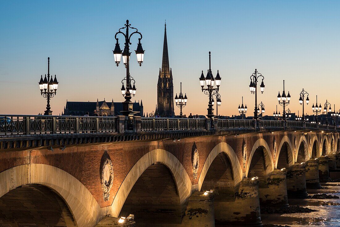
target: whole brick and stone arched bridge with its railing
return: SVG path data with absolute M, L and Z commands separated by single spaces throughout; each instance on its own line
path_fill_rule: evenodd
M 0 225 L 261 226 L 340 165 L 339 128 L 297 121 L 2 119 Z

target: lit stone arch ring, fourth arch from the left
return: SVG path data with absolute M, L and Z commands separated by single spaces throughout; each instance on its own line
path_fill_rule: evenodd
M 273 163 L 273 159 L 272 159 L 272 155 L 271 155 L 268 143 L 264 139 L 260 138 L 254 143 L 253 148 L 250 152 L 249 160 L 248 160 L 247 167 L 246 167 L 246 170 L 245 170 L 245 176 L 246 177 L 250 177 L 250 176 L 248 176 L 250 164 L 251 164 L 251 161 L 253 159 L 253 156 L 254 156 L 256 149 L 259 148 L 259 147 L 261 147 L 263 149 L 263 155 L 264 155 L 264 159 L 265 159 L 264 161 L 265 161 L 265 166 L 266 166 L 265 168 L 266 168 L 267 176 L 269 176 L 271 174 L 271 172 L 273 172 L 273 170 L 274 170 L 274 163 Z

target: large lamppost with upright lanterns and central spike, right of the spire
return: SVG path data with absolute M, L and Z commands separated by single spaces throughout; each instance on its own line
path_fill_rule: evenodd
M 217 88 L 214 88 L 215 82 L 216 82 Z M 221 84 L 221 77 L 220 77 L 218 70 L 217 70 L 216 78 L 214 78 L 214 76 L 212 76 L 212 72 L 211 72 L 211 52 L 209 51 L 208 73 L 207 73 L 207 76 L 204 78 L 203 70 L 202 70 L 202 74 L 201 74 L 201 77 L 200 77 L 200 85 L 202 87 L 202 92 L 204 91 L 204 94 L 209 96 L 207 117 L 211 118 L 211 119 L 214 116 L 214 108 L 212 108 L 214 106 L 214 103 L 212 102 L 212 100 L 213 100 L 212 96 L 216 95 L 218 93 L 220 84 Z M 204 88 L 204 85 L 207 85 L 207 88 Z

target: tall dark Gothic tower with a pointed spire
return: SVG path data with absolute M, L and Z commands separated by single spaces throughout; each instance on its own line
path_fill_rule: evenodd
M 157 107 L 161 117 L 174 116 L 172 70 L 169 66 L 167 25 L 164 29 L 162 68 L 159 69 L 157 83 Z

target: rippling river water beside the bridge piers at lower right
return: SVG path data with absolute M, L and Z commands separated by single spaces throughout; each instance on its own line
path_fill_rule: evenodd
M 340 182 L 322 183 L 325 189 L 307 190 L 309 194 L 327 193 L 340 197 Z M 340 199 L 289 199 L 291 206 L 303 206 L 318 210 L 311 213 L 295 214 L 261 214 L 263 224 L 306 226 L 338 226 L 340 227 Z

